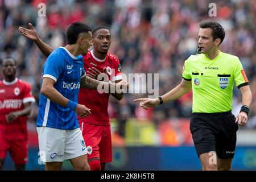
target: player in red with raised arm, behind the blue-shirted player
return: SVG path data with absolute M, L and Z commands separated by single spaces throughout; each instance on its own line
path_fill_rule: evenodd
M 39 49 L 48 56 L 53 48 L 44 43 L 36 34 L 35 28 L 19 27 L 19 31 L 26 38 L 34 40 Z M 122 80 L 121 66 L 118 57 L 108 52 L 111 44 L 111 34 L 108 28 L 100 26 L 92 31 L 93 50 L 84 56 L 86 75 L 97 80 L 100 73 L 108 75 L 108 81 Z M 106 81 L 106 79 L 105 79 Z M 105 164 L 112 162 L 112 141 L 108 115 L 110 93 L 98 93 L 97 90 L 80 88 L 79 103 L 88 106 L 91 115 L 79 117 L 79 124 L 88 151 L 88 163 L 92 171 L 104 170 Z M 121 100 L 123 94 L 112 93 L 112 96 Z

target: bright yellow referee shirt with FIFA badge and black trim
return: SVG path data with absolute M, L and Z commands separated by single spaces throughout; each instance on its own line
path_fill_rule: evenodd
M 237 56 L 219 51 L 213 60 L 203 53 L 190 56 L 182 77 L 191 80 L 193 113 L 222 113 L 232 110 L 233 85 L 249 85 Z

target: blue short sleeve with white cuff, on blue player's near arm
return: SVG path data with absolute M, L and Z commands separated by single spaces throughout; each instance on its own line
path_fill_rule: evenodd
M 65 57 L 63 53 L 54 51 L 49 55 L 44 66 L 43 77 L 52 78 L 55 82 L 59 78 L 63 69 L 65 69 Z

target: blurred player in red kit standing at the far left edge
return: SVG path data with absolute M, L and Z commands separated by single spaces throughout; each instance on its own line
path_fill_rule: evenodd
M 31 112 L 31 86 L 15 77 L 16 63 L 11 57 L 2 61 L 4 80 L 0 81 L 0 169 L 7 151 L 16 170 L 27 163 L 27 115 Z

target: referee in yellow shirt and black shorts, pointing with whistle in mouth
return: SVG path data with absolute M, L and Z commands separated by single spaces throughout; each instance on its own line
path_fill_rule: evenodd
M 139 98 L 144 109 L 177 100 L 192 88 L 190 130 L 203 170 L 230 170 L 236 149 L 238 125 L 245 126 L 252 101 L 249 81 L 237 56 L 221 52 L 218 46 L 225 31 L 217 22 L 201 22 L 199 50 L 184 63 L 182 81 L 155 99 Z M 237 117 L 232 114 L 234 82 L 242 93 Z

